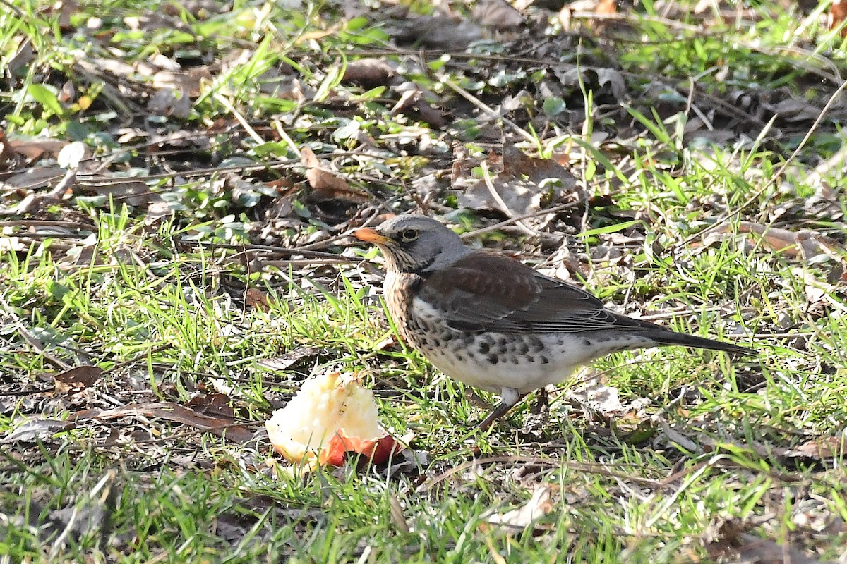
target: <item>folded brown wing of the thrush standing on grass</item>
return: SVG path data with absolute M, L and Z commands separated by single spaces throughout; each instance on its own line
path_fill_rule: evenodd
M 489 253 L 468 255 L 434 272 L 419 292 L 450 326 L 462 331 L 569 333 L 651 325 L 604 309 L 579 287 Z

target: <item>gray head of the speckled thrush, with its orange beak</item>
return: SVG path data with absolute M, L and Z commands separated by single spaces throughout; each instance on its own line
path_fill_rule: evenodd
M 392 217 L 377 227 L 357 229 L 353 237 L 376 244 L 390 271 L 431 271 L 470 252 L 456 233 L 426 216 Z

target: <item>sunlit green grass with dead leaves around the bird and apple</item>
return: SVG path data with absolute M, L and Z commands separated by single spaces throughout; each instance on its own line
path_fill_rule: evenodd
M 532 8 L 539 30 L 442 57 L 396 47 L 392 26 L 406 20 L 385 9 L 81 3 L 60 23 L 58 8 L 5 4 L 0 126 L 28 148 L 76 140 L 94 157 L 72 194 L 51 199 L 54 184 L 14 175 L 55 155 L 3 153 L 0 562 L 844 559 L 844 168 L 819 166 L 841 149 L 842 123 L 774 110 L 822 108 L 838 87 L 822 76 L 847 70 L 815 15 L 825 7 L 765 4 L 704 24 L 685 4 L 671 19 L 643 3 L 623 30 L 570 31 Z M 32 56 L 15 57 L 25 40 Z M 518 47 L 529 55 L 504 54 Z M 158 57 L 180 64 L 169 72 L 187 114 L 148 107 L 169 79 Z M 363 57 L 398 64 L 451 109 L 446 125 L 396 110 L 402 80 L 345 80 Z M 568 64 L 594 70 L 569 84 Z M 514 125 L 457 85 L 489 107 L 509 101 Z M 701 115 L 711 127 L 695 127 Z M 462 164 L 456 147 L 473 178 L 502 138 L 564 151 L 590 200 L 554 214 L 547 238 L 506 228 L 470 244 L 760 356 L 614 354 L 557 386 L 546 417 L 530 397 L 490 433 L 473 430 L 495 397 L 390 342 L 379 255 L 341 236 L 420 204 L 463 231 L 500 221 L 457 212 L 461 189 L 440 179 Z M 310 188 L 302 146 L 369 198 Z M 97 175 L 149 193 L 85 183 Z M 28 195 L 40 204 L 22 205 Z M 750 224 L 805 229 L 825 252 L 780 250 Z M 101 379 L 62 388 L 81 364 Z M 289 474 L 263 421 L 323 370 L 361 375 L 385 426 L 413 433 L 409 448 L 388 465 Z M 619 403 L 603 401 L 612 392 Z M 252 440 L 162 412 L 83 417 L 167 402 L 219 414 L 221 397 Z

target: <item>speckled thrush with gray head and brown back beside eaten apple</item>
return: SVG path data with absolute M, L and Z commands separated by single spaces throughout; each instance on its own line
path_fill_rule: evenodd
M 384 257 L 383 297 L 401 337 L 445 375 L 501 397 L 479 430 L 610 353 L 680 345 L 756 354 L 606 309 L 580 287 L 468 247 L 428 216 L 393 216 L 352 236 Z

